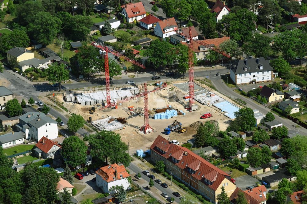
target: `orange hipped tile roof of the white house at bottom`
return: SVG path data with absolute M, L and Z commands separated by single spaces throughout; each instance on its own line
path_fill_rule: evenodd
M 117 178 L 115 176 L 115 170 L 117 170 Z M 119 166 L 118 164 L 111 164 L 101 167 L 96 173 L 108 183 L 114 181 L 114 178 L 115 180 L 119 180 L 130 177 L 124 165 Z M 122 175 L 122 178 L 120 175 Z

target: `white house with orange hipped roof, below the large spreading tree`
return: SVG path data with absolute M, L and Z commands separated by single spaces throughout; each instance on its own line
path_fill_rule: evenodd
M 104 193 L 109 193 L 109 189 L 116 185 L 123 185 L 127 189 L 130 186 L 128 178 L 130 178 L 130 175 L 124 165 L 111 164 L 101 167 L 96 171 L 96 185 Z

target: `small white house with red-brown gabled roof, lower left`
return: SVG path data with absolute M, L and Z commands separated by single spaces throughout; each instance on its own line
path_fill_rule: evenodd
M 35 145 L 34 154 L 43 159 L 59 158 L 61 155 L 62 146 L 58 142 L 42 137 Z

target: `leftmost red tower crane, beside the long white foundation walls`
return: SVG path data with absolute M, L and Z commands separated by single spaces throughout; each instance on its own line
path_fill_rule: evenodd
M 100 50 L 103 51 L 103 56 L 104 56 L 104 69 L 105 69 L 105 75 L 106 75 L 106 92 L 107 92 L 107 106 L 108 108 L 111 108 L 111 94 L 110 94 L 110 74 L 109 74 L 109 58 L 108 58 L 108 53 L 111 53 L 113 55 L 116 55 L 126 61 L 131 62 L 132 64 L 135 64 L 143 69 L 145 69 L 145 65 L 143 65 L 140 62 L 137 62 L 133 59 L 130 59 L 126 57 L 125 55 L 122 55 L 121 53 L 108 48 L 107 46 L 104 45 L 99 45 L 96 42 L 91 42 L 91 45 L 98 47 Z M 148 114 L 148 113 L 147 113 Z

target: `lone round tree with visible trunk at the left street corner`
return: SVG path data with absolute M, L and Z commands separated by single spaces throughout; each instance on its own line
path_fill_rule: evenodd
M 62 81 L 69 79 L 69 71 L 65 69 L 64 64 L 52 63 L 47 69 L 47 80 L 50 83 L 58 83 L 61 89 Z

